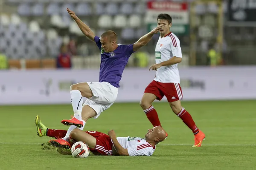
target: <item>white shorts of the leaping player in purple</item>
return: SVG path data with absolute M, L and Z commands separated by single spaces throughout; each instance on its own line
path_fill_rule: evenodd
M 108 82 L 87 82 L 93 96 L 84 102 L 84 105 L 90 106 L 96 111 L 97 115 L 94 119 L 97 119 L 99 115 L 113 105 L 118 94 L 118 88 L 114 87 Z

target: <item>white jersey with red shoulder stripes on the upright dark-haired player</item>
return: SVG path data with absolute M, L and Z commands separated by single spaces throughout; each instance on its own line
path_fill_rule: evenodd
M 170 32 L 165 37 L 159 37 L 155 48 L 156 64 L 167 61 L 172 57 L 182 57 L 180 40 L 178 37 Z M 172 82 L 180 83 L 180 73 L 177 67 L 178 64 L 163 66 L 157 69 L 156 77 L 157 82 Z

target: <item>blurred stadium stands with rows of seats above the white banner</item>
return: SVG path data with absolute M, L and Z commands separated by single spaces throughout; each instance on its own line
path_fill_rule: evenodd
M 247 8 L 246 0 L 172 0 L 186 3 L 188 8 L 179 9 L 169 3 L 167 10 L 159 5 L 170 2 L 168 0 L 155 0 L 160 3 L 155 10 L 148 8 L 148 1 L 0 0 L 0 53 L 7 60 L 7 65 L 1 64 L 1 68 L 55 68 L 55 58 L 62 44 L 67 45 L 72 55 L 72 68 L 99 68 L 99 51 L 82 35 L 68 15 L 67 7 L 96 35 L 111 29 L 123 44 L 134 43 L 153 28 L 155 14 L 169 10 L 173 17 L 172 32 L 177 34 L 182 45 L 184 57 L 180 65 L 256 64 L 253 57 L 256 27 L 252 25 L 253 16 L 248 16 L 254 9 Z M 128 67 L 152 64 L 157 40 L 158 35 L 155 35 L 140 50 L 145 59 L 131 57 Z M 217 58 L 216 61 L 209 59 L 210 56 Z

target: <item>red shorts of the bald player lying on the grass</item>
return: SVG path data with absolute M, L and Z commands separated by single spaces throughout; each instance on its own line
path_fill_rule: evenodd
M 113 143 L 108 135 L 97 131 L 86 131 L 86 133 L 96 138 L 96 147 L 90 149 L 94 155 L 113 155 Z

